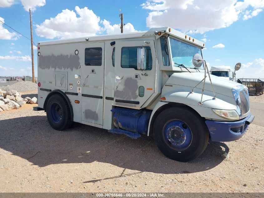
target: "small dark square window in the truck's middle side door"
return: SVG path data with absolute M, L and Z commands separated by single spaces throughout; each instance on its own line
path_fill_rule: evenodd
M 84 64 L 92 66 L 102 65 L 102 48 L 85 48 Z

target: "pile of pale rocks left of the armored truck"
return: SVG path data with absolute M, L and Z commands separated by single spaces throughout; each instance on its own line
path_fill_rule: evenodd
M 17 90 L 3 91 L 0 89 L 0 111 L 9 111 L 11 109 L 19 109 L 23 104 L 35 104 L 37 98 L 22 98 L 21 93 Z

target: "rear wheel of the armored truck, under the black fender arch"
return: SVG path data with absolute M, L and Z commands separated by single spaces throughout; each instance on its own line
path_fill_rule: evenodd
M 71 127 L 73 122 L 71 121 L 70 107 L 62 95 L 54 94 L 48 99 L 46 112 L 48 122 L 53 129 L 61 131 Z

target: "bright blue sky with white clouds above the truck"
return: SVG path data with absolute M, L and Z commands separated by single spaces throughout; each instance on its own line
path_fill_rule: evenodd
M 264 79 L 264 0 L 0 0 L 0 76 L 32 75 L 33 41 L 88 37 L 171 27 L 205 43 L 211 66 L 242 68 L 237 78 Z M 25 37 L 29 38 L 25 38 Z M 34 47 L 35 76 L 37 48 Z

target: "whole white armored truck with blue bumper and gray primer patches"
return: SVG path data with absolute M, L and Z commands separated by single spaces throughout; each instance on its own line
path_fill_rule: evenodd
M 78 122 L 131 138 L 153 135 L 164 155 L 189 161 L 209 137 L 237 140 L 254 119 L 247 87 L 210 77 L 204 43 L 172 28 L 37 46 L 34 110 L 44 109 L 56 130 Z

